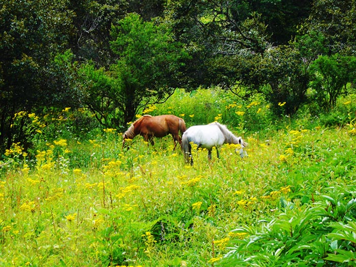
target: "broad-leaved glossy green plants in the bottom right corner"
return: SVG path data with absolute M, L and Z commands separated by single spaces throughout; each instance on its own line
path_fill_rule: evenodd
M 320 201 L 295 207 L 281 199 L 283 213 L 255 227 L 236 228 L 247 233 L 234 241 L 222 266 L 352 266 L 354 187 L 329 188 Z M 339 262 L 336 263 L 336 262 Z

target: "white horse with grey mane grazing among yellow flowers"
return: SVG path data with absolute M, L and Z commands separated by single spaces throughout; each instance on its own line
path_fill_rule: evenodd
M 182 149 L 187 163 L 193 165 L 191 142 L 208 151 L 208 158 L 212 159 L 212 149 L 216 147 L 216 153 L 219 158 L 219 148 L 225 143 L 241 144 L 240 156 L 244 157 L 244 147 L 247 143 L 241 138 L 234 136 L 225 125 L 217 122 L 208 125 L 196 125 L 189 127 L 182 136 Z M 237 149 L 236 149 L 237 151 Z M 246 153 L 246 152 L 245 152 Z

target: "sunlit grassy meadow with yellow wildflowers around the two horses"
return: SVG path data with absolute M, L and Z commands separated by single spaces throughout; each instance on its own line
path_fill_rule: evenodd
M 47 140 L 43 126 L 31 154 L 17 143 L 0 162 L 0 266 L 354 266 L 354 105 L 325 126 L 177 91 L 143 113 L 219 121 L 249 143 L 243 159 L 193 150 L 194 166 L 170 136 L 123 150 L 115 129 Z

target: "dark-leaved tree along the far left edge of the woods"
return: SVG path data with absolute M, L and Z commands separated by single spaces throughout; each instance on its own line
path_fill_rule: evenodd
M 24 137 L 23 124 L 13 125 L 17 112 L 58 104 L 60 91 L 70 90 L 51 86 L 52 63 L 68 45 L 75 14 L 67 0 L 7 0 L 0 6 L 1 150 Z

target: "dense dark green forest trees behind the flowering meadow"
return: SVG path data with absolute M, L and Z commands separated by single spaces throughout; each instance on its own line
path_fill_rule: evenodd
M 81 109 L 124 129 L 175 88 L 259 94 L 276 116 L 328 112 L 354 90 L 351 0 L 0 3 L 0 151 L 32 134 L 19 112 Z

